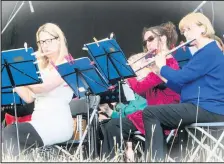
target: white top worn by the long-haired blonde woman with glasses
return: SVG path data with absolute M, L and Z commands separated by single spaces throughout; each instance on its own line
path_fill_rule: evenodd
M 48 75 L 48 70 L 41 73 L 43 81 Z M 74 124 L 69 102 L 72 95 L 73 91 L 66 83 L 48 93 L 35 95 L 35 108 L 30 123 L 42 138 L 44 145 L 71 139 Z

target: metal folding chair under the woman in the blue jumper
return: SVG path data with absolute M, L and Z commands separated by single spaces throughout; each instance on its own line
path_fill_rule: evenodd
M 211 161 L 212 157 L 224 162 L 224 122 L 194 123 L 185 127 L 188 135 L 198 146 L 191 155 L 189 162 L 192 162 L 199 150 L 204 150 L 206 162 Z M 192 130 L 202 134 L 201 139 L 192 133 Z M 205 142 L 207 141 L 207 143 Z

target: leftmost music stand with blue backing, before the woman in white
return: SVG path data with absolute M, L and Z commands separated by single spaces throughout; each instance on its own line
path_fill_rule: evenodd
M 35 65 L 35 56 L 33 48 L 21 48 L 2 51 L 1 60 L 1 75 L 2 75 L 2 86 L 1 89 L 11 89 L 13 95 L 13 103 L 16 117 L 16 132 L 17 132 L 17 143 L 20 152 L 19 145 L 19 132 L 18 132 L 18 120 L 17 120 L 17 109 L 16 109 L 16 98 L 14 88 L 18 86 L 26 86 L 32 84 L 42 83 L 42 79 L 37 75 L 39 72 L 38 67 Z M 3 95 L 4 96 L 4 95 Z

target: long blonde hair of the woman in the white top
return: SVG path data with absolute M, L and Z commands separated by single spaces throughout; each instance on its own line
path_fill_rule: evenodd
M 55 65 L 60 64 L 64 60 L 64 57 L 66 55 L 68 55 L 67 41 L 66 41 L 64 33 L 62 32 L 62 30 L 59 28 L 58 25 L 53 24 L 53 23 L 45 23 L 44 25 L 39 27 L 39 29 L 37 30 L 37 33 L 36 33 L 37 42 L 40 39 L 39 38 L 40 32 L 47 32 L 54 37 L 58 37 L 58 39 L 60 40 L 60 48 L 59 48 L 60 53 L 59 53 L 59 56 L 57 58 Z M 49 59 L 46 56 L 41 56 L 41 54 L 43 53 L 41 46 L 39 44 L 37 44 L 37 46 L 38 46 L 37 54 L 39 56 L 38 57 L 39 58 L 38 66 L 40 69 L 44 69 L 49 64 Z

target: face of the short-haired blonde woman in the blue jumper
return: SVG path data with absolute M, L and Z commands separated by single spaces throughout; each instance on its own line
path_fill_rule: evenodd
M 202 33 L 204 32 L 204 28 L 202 26 L 198 26 L 196 24 L 189 24 L 183 28 L 182 34 L 185 36 L 186 40 L 192 39 L 200 39 L 202 37 Z

